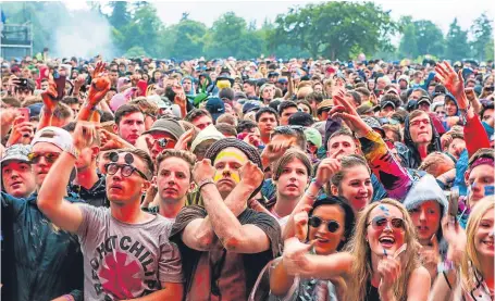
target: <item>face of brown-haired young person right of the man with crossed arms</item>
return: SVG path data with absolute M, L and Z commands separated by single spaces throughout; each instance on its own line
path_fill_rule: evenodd
M 309 175 L 305 164 L 299 159 L 293 159 L 282 170 L 276 180 L 276 189 L 286 198 L 299 198 L 305 193 Z

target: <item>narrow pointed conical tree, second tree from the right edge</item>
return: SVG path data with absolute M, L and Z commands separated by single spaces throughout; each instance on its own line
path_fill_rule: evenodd
M 450 24 L 445 38 L 445 58 L 459 61 L 466 59 L 470 54 L 469 43 L 468 43 L 468 32 L 462 30 L 457 24 L 457 17 L 454 18 L 454 22 Z

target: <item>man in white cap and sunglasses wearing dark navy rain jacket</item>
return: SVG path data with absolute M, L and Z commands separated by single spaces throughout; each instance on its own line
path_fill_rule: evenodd
M 75 154 L 72 137 L 66 130 L 45 127 L 36 133 L 27 159 L 37 191 L 62 151 Z M 26 153 L 23 153 L 15 158 L 25 160 Z M 2 172 L 3 167 L 2 164 Z M 69 170 L 72 171 L 72 165 Z M 78 202 L 66 197 L 65 185 L 60 185 L 58 179 L 54 179 L 54 184 L 63 190 L 62 198 L 65 198 L 67 203 Z M 18 188 L 22 185 L 14 183 L 14 186 Z M 26 196 L 26 191 L 24 195 L 23 199 L 17 199 L 1 192 L 2 236 L 5 246 L 2 253 L 2 262 L 5 263 L 2 265 L 2 275 L 7 280 L 3 284 L 2 297 L 5 300 L 18 301 L 55 298 L 83 300 L 83 264 L 77 237 L 60 230 L 47 220 L 37 205 L 38 192 Z M 7 273 L 3 274 L 4 271 Z

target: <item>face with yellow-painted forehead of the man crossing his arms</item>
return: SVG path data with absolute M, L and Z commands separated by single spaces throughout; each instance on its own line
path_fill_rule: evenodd
M 222 197 L 225 198 L 239 184 L 239 170 L 247 161 L 247 155 L 236 148 L 226 148 L 216 155 L 213 180 Z

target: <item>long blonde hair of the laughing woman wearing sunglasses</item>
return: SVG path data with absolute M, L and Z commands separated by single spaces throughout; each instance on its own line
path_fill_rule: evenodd
M 403 262 L 400 277 L 394 284 L 394 292 L 397 300 L 401 301 L 407 299 L 407 280 L 409 279 L 411 273 L 420 266 L 418 258 L 419 243 L 416 240 L 416 227 L 412 224 L 412 220 L 406 208 L 393 199 L 383 199 L 379 202 L 373 202 L 367 205 L 359 213 L 354 236 L 346 248 L 347 251 L 355 256 L 350 274 L 350 285 L 348 287 L 354 287 L 356 289 L 348 290 L 347 300 L 349 301 L 366 299 L 367 286 L 364 284 L 371 281 L 373 274 L 370 243 L 366 238 L 369 225 L 368 220 L 371 211 L 381 204 L 389 204 L 397 208 L 403 213 L 403 220 L 405 222 L 405 243 L 407 243 L 407 249 L 404 258 L 407 260 Z

